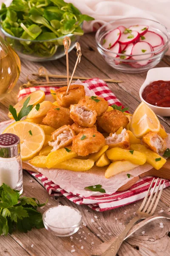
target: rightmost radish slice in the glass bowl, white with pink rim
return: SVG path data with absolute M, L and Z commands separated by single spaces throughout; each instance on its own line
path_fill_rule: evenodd
M 144 36 L 140 37 L 140 41 L 147 42 L 152 45 L 152 47 L 156 47 L 162 44 L 163 38 L 161 35 L 156 34 L 152 31 L 147 31 L 147 33 Z

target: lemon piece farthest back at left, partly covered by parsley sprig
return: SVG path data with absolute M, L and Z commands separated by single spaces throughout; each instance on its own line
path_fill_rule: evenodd
M 23 108 L 23 103 L 26 101 L 26 99 L 30 96 L 30 100 L 28 102 L 28 105 L 37 105 L 38 103 L 41 103 L 45 100 L 45 93 L 42 90 L 35 91 L 34 93 L 29 94 L 25 98 L 21 99 L 16 105 L 14 105 L 14 108 L 17 111 L 17 115 L 20 112 L 21 108 Z M 9 112 L 8 117 L 11 119 L 14 119 L 12 114 Z

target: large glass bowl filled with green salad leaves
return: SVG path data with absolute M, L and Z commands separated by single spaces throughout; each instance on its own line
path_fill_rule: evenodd
M 0 9 L 0 30 L 21 58 L 55 60 L 64 56 L 63 39 L 71 39 L 71 51 L 83 35 L 83 21 L 94 20 L 63 0 L 13 0 Z

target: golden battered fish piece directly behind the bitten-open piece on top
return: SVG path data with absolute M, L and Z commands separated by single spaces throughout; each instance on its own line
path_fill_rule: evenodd
M 97 116 L 101 116 L 108 109 L 108 102 L 98 96 L 92 96 L 90 98 L 81 99 L 79 105 L 85 106 L 91 110 L 95 110 Z

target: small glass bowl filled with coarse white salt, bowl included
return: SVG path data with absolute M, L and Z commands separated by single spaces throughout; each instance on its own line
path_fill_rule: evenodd
M 56 236 L 71 236 L 76 233 L 82 224 L 82 215 L 79 210 L 66 205 L 51 207 L 42 215 L 46 230 Z

